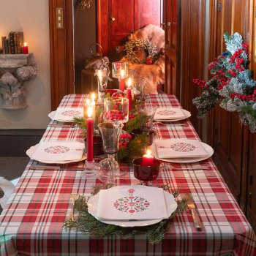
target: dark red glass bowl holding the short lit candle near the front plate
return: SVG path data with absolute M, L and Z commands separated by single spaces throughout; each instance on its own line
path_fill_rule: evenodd
M 134 176 L 140 181 L 141 185 L 153 185 L 152 181 L 158 177 L 159 166 L 161 162 L 157 159 L 154 159 L 154 162 L 151 166 L 142 166 L 142 161 L 142 157 L 132 161 Z

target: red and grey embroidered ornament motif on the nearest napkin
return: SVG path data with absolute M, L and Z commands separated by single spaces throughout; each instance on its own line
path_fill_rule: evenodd
M 150 203 L 145 198 L 133 195 L 135 189 L 128 189 L 128 192 L 129 196 L 116 200 L 114 203 L 116 210 L 132 215 L 139 211 L 145 211 L 150 206 Z

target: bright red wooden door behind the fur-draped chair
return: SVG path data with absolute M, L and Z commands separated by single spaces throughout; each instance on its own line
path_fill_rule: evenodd
M 118 61 L 115 47 L 124 45 L 132 31 L 154 24 L 160 26 L 163 0 L 98 0 L 97 34 L 104 56 Z

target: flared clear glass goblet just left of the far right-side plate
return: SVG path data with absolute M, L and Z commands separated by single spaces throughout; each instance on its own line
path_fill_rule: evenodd
M 140 118 L 140 129 L 143 132 L 150 132 L 153 128 L 154 113 L 157 110 L 157 105 L 143 103 L 136 105 L 135 108 Z

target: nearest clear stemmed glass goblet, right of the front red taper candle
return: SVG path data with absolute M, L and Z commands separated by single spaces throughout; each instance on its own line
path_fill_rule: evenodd
M 113 183 L 119 176 L 120 168 L 115 159 L 118 151 L 118 143 L 121 129 L 124 124 L 99 124 L 99 131 L 102 134 L 103 149 L 108 158 L 102 159 L 97 166 L 97 178 L 104 183 Z

